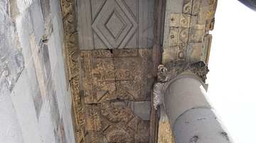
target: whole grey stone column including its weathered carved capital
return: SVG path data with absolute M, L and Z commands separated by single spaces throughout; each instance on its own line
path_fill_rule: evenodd
M 176 143 L 233 142 L 210 105 L 204 81 L 208 68 L 203 62 L 171 63 L 159 68 L 163 104 Z

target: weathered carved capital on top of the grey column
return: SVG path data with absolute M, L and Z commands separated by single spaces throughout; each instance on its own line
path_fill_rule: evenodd
M 203 82 L 206 82 L 206 74 L 208 71 L 209 69 L 203 61 L 193 64 L 185 62 L 169 62 L 165 64 L 165 67 L 163 65 L 159 65 L 158 78 L 159 81 L 166 82 L 174 79 L 183 72 L 192 72 L 201 78 Z

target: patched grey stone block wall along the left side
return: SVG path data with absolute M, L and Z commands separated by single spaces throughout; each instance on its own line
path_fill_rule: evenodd
M 75 142 L 58 0 L 0 1 L 0 142 Z

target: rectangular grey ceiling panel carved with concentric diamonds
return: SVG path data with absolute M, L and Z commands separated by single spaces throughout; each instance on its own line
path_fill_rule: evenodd
M 154 0 L 78 1 L 81 50 L 150 48 Z

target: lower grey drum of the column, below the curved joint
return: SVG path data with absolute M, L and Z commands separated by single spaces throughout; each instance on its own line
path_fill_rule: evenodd
M 173 135 L 176 143 L 233 142 L 220 118 L 209 108 L 193 108 L 183 113 L 174 124 Z

